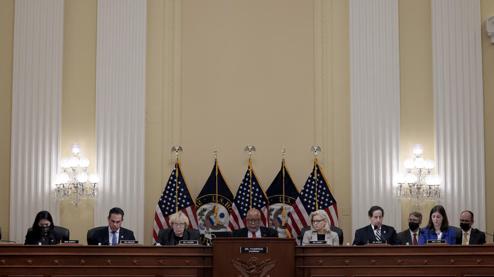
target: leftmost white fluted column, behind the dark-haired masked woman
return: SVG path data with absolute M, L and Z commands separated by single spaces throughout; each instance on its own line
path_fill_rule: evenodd
M 52 177 L 60 157 L 63 0 L 16 0 L 10 155 L 10 240 L 41 210 L 60 224 Z

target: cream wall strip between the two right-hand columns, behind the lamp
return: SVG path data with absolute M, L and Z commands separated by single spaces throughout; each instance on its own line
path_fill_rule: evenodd
M 422 158 L 434 160 L 434 107 L 432 84 L 432 25 L 430 0 L 399 0 L 400 26 L 400 120 L 401 172 L 403 161 L 414 158 L 412 147 L 424 146 Z M 411 211 L 422 213 L 422 225 L 427 225 L 430 209 L 435 202 L 424 206 L 402 200 L 402 226 L 408 229 Z

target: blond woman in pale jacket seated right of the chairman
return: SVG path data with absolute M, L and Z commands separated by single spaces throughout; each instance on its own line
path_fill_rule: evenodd
M 310 241 L 326 241 L 326 245 L 339 245 L 338 234 L 329 229 L 331 222 L 323 209 L 316 210 L 309 215 L 310 231 L 305 232 L 302 245 Z

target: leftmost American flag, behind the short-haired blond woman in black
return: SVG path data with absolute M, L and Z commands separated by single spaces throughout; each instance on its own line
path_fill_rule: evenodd
M 178 178 L 177 178 L 178 170 Z M 177 182 L 178 180 L 178 182 Z M 178 192 L 175 190 L 175 184 L 178 183 Z M 155 223 L 153 230 L 153 244 L 158 240 L 160 229 L 170 228 L 168 225 L 170 215 L 175 213 L 175 201 L 178 198 L 178 210 L 182 211 L 189 217 L 189 227 L 197 229 L 196 206 L 190 195 L 189 187 L 185 182 L 180 163 L 175 161 L 175 168 L 168 178 L 165 190 L 156 205 Z

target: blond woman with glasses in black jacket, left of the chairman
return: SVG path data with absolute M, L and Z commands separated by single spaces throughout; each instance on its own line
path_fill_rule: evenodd
M 185 213 L 179 211 L 170 215 L 168 224 L 171 228 L 160 230 L 156 244 L 177 245 L 180 241 L 197 241 L 198 244 L 203 244 L 199 230 L 187 228 L 189 227 L 189 217 Z

